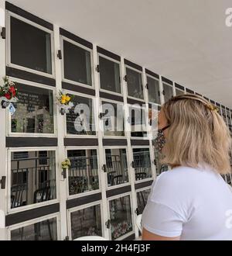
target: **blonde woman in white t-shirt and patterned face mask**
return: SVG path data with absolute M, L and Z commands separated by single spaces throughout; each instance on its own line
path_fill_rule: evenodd
M 142 214 L 142 240 L 232 240 L 230 133 L 206 99 L 179 95 L 158 117 L 155 149 L 163 172 L 152 184 Z

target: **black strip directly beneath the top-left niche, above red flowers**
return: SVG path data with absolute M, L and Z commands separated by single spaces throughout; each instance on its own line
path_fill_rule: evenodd
M 5 74 L 13 78 L 20 78 L 27 81 L 34 81 L 39 84 L 56 87 L 56 80 L 53 78 L 47 78 L 40 74 L 22 71 L 21 69 L 17 69 L 15 67 L 5 67 Z

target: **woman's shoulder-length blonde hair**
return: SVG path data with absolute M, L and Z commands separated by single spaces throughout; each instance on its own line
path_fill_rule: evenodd
M 215 106 L 186 94 L 169 99 L 162 109 L 170 125 L 162 163 L 172 168 L 206 163 L 220 174 L 230 172 L 230 131 Z

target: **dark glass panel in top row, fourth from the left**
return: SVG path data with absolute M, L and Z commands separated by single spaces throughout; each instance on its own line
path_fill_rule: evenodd
M 127 83 L 128 83 L 128 95 L 138 99 L 143 99 L 142 91 L 142 74 L 126 68 Z

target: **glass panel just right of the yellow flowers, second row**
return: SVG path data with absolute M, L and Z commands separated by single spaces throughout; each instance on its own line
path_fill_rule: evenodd
M 95 135 L 92 99 L 73 95 L 74 106 L 66 115 L 67 134 Z

